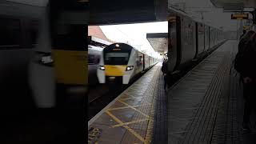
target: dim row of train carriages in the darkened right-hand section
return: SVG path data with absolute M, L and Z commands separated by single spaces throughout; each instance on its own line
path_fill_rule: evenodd
M 168 74 L 186 69 L 226 41 L 222 30 L 175 8 L 169 11 L 168 30 Z

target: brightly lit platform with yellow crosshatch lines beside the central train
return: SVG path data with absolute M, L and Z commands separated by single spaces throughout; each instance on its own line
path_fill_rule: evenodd
M 167 143 L 166 94 L 158 63 L 88 122 L 88 143 Z

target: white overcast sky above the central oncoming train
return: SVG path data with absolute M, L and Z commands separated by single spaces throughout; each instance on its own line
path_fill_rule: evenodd
M 100 26 L 107 38 L 115 42 L 129 42 L 138 50 L 154 53 L 150 42 L 146 39 L 147 33 L 167 33 L 168 22 L 147 22 L 126 25 Z

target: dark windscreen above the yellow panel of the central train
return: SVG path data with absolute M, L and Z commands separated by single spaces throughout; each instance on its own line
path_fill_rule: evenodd
M 105 65 L 127 65 L 129 53 L 106 53 Z

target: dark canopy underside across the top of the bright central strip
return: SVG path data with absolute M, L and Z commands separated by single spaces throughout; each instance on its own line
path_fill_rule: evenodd
M 161 22 L 167 18 L 167 0 L 93 0 L 89 25 Z

